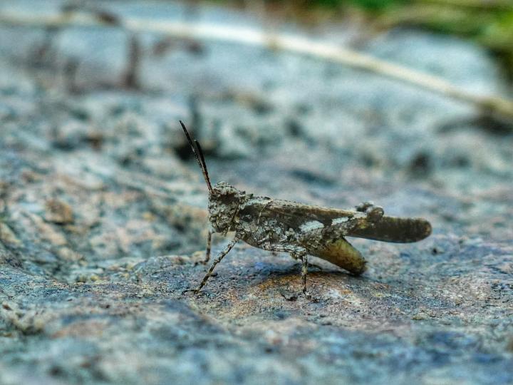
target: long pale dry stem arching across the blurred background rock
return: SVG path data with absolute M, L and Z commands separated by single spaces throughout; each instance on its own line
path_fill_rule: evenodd
M 97 16 L 83 13 L 56 14 L 40 16 L 33 14 L 1 14 L 0 23 L 19 26 L 83 26 L 91 27 L 101 24 Z M 110 25 L 110 24 L 108 24 Z M 513 119 L 513 101 L 499 96 L 482 96 L 455 86 L 449 81 L 427 73 L 390 63 L 373 56 L 359 53 L 348 48 L 342 48 L 325 41 L 290 34 L 273 34 L 258 29 L 223 26 L 218 24 L 194 24 L 182 21 L 156 21 L 138 18 L 125 18 L 118 22 L 121 28 L 132 33 L 153 32 L 181 39 L 204 39 L 243 43 L 252 46 L 262 46 L 272 49 L 291 51 L 328 61 L 341 63 L 346 66 L 364 71 L 378 73 L 414 86 L 439 93 L 442 96 L 470 103 L 484 113 L 498 114 Z

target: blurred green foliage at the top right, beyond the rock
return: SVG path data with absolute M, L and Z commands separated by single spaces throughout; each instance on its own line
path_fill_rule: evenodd
M 242 0 L 217 0 L 246 4 Z M 513 76 L 513 0 L 264 0 L 269 9 L 283 7 L 286 17 L 307 23 L 341 14 L 366 19 L 369 29 L 417 26 L 472 39 L 507 63 Z

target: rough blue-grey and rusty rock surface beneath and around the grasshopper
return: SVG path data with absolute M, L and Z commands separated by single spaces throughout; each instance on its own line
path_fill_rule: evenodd
M 208 6 L 102 5 L 259 24 Z M 59 6 L 3 1 L 0 13 Z M 308 33 L 511 96 L 467 41 L 348 24 Z M 312 58 L 135 39 L 0 26 L 0 384 L 513 382 L 510 123 Z M 427 218 L 433 234 L 351 240 L 368 272 L 316 260 L 312 299 L 294 260 L 240 244 L 201 294 L 182 295 L 206 270 L 195 262 L 207 193 L 178 119 L 213 180 L 333 207 L 373 200 Z

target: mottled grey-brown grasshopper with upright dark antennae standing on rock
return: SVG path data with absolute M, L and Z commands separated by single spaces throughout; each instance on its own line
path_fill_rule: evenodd
M 356 275 L 365 272 L 366 260 L 345 239 L 346 236 L 406 243 L 423 240 L 431 234 L 427 220 L 385 217 L 383 208 L 370 202 L 358 205 L 356 210 L 340 210 L 259 197 L 224 182 L 212 186 L 199 142 L 191 139 L 181 120 L 180 124 L 209 190 L 211 229 L 204 263 L 210 258 L 212 233 L 226 235 L 229 231 L 235 232 L 233 240 L 219 253 L 199 287 L 186 291 L 199 292 L 216 265 L 239 240 L 271 252 L 288 252 L 295 260 L 301 260 L 301 280 L 306 294 L 308 255 L 322 258 Z

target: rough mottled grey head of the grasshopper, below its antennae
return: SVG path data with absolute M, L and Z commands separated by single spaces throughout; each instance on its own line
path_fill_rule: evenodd
M 209 195 L 209 221 L 215 232 L 235 230 L 239 206 L 245 197 L 244 191 L 228 183 L 219 182 L 212 187 Z

